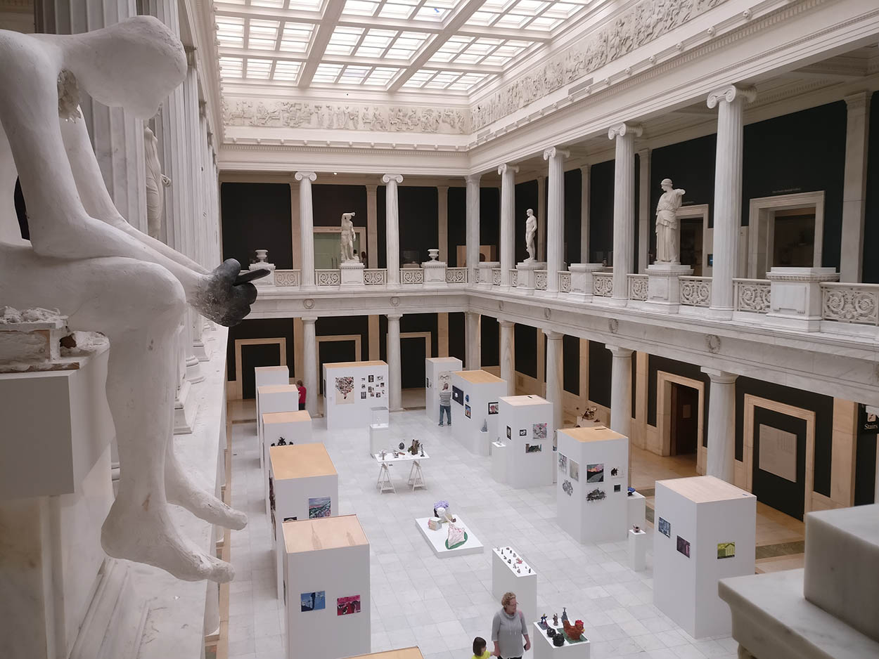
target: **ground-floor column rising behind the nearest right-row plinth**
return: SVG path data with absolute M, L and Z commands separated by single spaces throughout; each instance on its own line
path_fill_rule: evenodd
M 705 474 L 733 482 L 736 475 L 735 373 L 702 368 L 708 373 L 708 460 Z

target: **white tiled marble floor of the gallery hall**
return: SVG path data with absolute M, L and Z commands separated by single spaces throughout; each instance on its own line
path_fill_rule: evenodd
M 456 410 L 453 409 L 453 413 Z M 454 419 L 453 419 L 454 422 Z M 490 637 L 499 608 L 491 595 L 490 547 L 511 546 L 539 575 L 541 613 L 577 612 L 592 642 L 592 659 L 734 659 L 730 637 L 695 641 L 652 605 L 652 565 L 628 568 L 627 543 L 580 545 L 556 523 L 556 489 L 511 489 L 491 477 L 490 458 L 461 451 L 448 428 L 432 423 L 424 410 L 391 415 L 391 437 L 419 438 L 430 453 L 427 489 L 375 489 L 378 467 L 367 458 L 367 430 L 326 431 L 315 419 L 315 439 L 323 441 L 338 470 L 338 515 L 356 513 L 367 532 L 372 557 L 372 651 L 418 645 L 425 659 L 470 656 L 476 635 Z M 232 432 L 232 500 L 247 511 L 250 524 L 232 532 L 229 659 L 285 659 L 284 612 L 275 597 L 270 522 L 256 448 L 256 424 L 236 424 Z M 396 474 L 396 478 L 401 478 Z M 489 550 L 437 558 L 412 523 L 447 499 Z M 653 529 L 648 529 L 652 547 Z M 531 659 L 532 652 L 525 654 Z

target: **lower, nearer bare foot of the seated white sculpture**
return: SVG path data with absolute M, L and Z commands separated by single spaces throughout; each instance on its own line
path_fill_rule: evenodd
M 163 510 L 164 502 L 154 506 L 149 509 L 149 496 L 134 506 L 123 506 L 117 498 L 101 527 L 101 547 L 107 555 L 147 563 L 183 581 L 232 581 L 235 568 L 181 538 Z

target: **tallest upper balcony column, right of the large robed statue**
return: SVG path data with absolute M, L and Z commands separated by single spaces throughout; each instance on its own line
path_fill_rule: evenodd
M 715 318 L 732 317 L 732 279 L 737 274 L 738 230 L 742 225 L 742 112 L 745 102 L 756 96 L 752 87 L 734 84 L 708 94 L 708 107 L 717 106 L 714 265 L 709 309 Z

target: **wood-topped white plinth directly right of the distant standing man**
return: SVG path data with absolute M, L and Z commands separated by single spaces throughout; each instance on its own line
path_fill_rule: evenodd
M 452 373 L 454 438 L 470 453 L 490 454 L 489 445 L 498 438 L 498 415 L 489 411 L 499 409 L 500 398 L 505 394 L 506 380 L 497 375 L 482 370 Z M 482 431 L 483 424 L 487 432 Z

